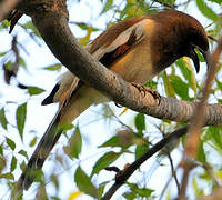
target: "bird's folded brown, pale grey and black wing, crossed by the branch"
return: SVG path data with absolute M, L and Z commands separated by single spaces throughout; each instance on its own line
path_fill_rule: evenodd
M 138 23 L 143 19 L 144 17 L 138 17 L 117 23 L 90 43 L 85 48 L 87 51 L 109 69 L 113 62 L 143 39 L 144 31 Z M 130 24 L 131 27 L 129 27 Z M 63 101 L 83 84 L 78 77 L 67 71 L 51 93 L 42 101 L 42 106 L 53 102 L 63 104 Z

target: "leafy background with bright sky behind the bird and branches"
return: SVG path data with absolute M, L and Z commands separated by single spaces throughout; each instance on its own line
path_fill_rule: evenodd
M 70 27 L 87 46 L 101 31 L 127 18 L 176 9 L 201 21 L 210 47 L 221 34 L 221 0 L 69 0 Z M 23 17 L 12 34 L 10 23 L 0 24 L 0 198 L 9 198 L 31 152 L 52 118 L 57 106 L 40 107 L 62 66 L 51 56 L 30 18 Z M 213 40 L 213 39 L 214 40 Z M 203 62 L 203 58 L 200 60 Z M 178 60 L 147 86 L 161 96 L 188 101 L 201 98 L 205 63 L 196 74 L 188 58 Z M 209 102 L 222 102 L 221 67 Z M 43 168 L 43 181 L 33 184 L 24 199 L 74 199 L 101 197 L 114 182 L 108 166 L 123 169 L 157 141 L 185 126 L 155 120 L 114 103 L 91 108 L 64 133 Z M 157 153 L 129 179 L 115 198 L 172 199 L 181 184 L 180 159 L 185 137 Z M 212 193 L 222 183 L 222 129 L 202 130 L 195 168 L 189 182 L 189 199 Z M 81 191 L 81 192 L 80 192 Z M 87 197 L 88 196 L 88 197 Z

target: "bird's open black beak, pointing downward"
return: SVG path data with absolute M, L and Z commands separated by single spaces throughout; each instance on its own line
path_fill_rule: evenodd
M 189 57 L 193 60 L 193 63 L 194 63 L 194 67 L 195 67 L 195 71 L 199 72 L 200 71 L 200 61 L 199 61 L 199 57 L 198 57 L 198 53 L 195 52 L 194 48 L 198 48 L 198 47 L 192 47 L 190 52 L 189 52 Z M 198 50 L 202 53 L 205 62 L 206 62 L 206 66 L 208 66 L 208 69 L 209 69 L 209 63 L 210 63 L 210 51 L 203 51 L 202 49 L 198 48 Z

